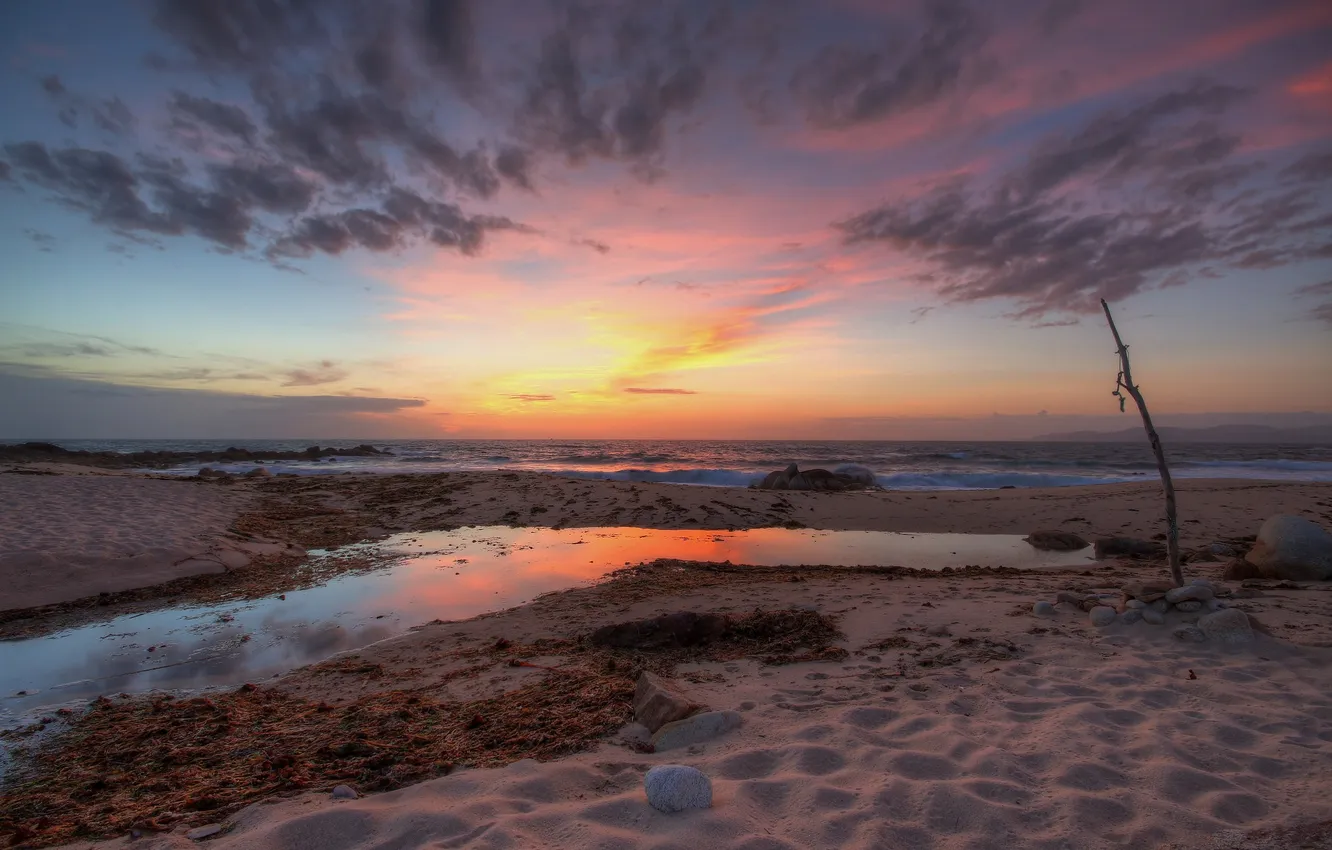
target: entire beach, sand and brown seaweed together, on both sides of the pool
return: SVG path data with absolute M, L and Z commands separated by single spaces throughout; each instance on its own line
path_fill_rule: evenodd
M 163 526 L 127 521 L 117 502 L 159 517 L 186 549 L 273 546 L 196 577 L 234 577 L 226 592 L 241 597 L 278 593 L 296 548 L 456 526 L 1052 529 L 1087 540 L 1150 540 L 1162 526 L 1154 482 L 803 493 L 531 472 L 218 482 L 36 470 L 60 474 L 0 474 L 5 508 L 41 505 L 0 552 L 45 540 L 33 537 L 43 517 L 73 524 L 60 534 L 99 569 L 120 570 L 125 589 L 145 582 L 132 600 L 92 604 L 103 612 L 190 593 L 188 576 L 172 576 L 170 596 L 156 596 L 160 573 L 140 568 Z M 1183 548 L 1197 553 L 1243 546 L 1273 513 L 1329 525 L 1332 485 L 1189 480 L 1179 504 Z M 12 569 L 5 581 L 21 574 Z M 1332 594 L 1325 582 L 1223 580 L 1225 558 L 1199 557 L 1185 577 L 1216 582 L 1248 614 L 1252 645 L 1181 642 L 1172 630 L 1189 618 L 1177 613 L 1160 626 L 1096 628 L 1067 605 L 1032 612 L 1060 592 L 1114 594 L 1164 577 L 1151 560 L 932 573 L 647 564 L 509 610 L 422 622 L 258 686 L 165 701 L 108 693 L 92 719 L 52 714 L 49 729 L 9 741 L 53 734 L 55 749 L 37 749 L 48 785 L 7 803 L 0 829 L 20 845 L 79 847 L 89 846 L 80 834 L 107 839 L 97 846 L 194 846 L 188 830 L 213 823 L 206 841 L 218 847 L 274 849 L 1284 847 L 1308 835 L 1324 843 L 1307 846 L 1327 846 Z M 25 592 L 51 608 L 25 605 L 24 617 L 67 616 L 80 581 L 56 576 Z M 20 606 L 7 597 L 5 608 Z M 590 643 L 602 626 L 673 612 L 795 625 L 666 650 Z M 739 726 L 651 751 L 633 722 L 642 670 L 738 713 Z M 60 737 L 69 721 L 81 737 Z M 711 779 L 710 809 L 647 803 L 645 773 L 669 763 Z M 333 799 L 337 785 L 358 798 Z

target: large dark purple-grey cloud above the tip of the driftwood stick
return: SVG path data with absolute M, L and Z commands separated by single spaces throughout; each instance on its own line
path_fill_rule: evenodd
M 1164 93 L 1047 139 L 994 185 L 955 180 L 836 226 L 848 244 L 884 242 L 926 261 L 948 300 L 1010 298 L 1026 317 L 1094 310 L 1103 297 L 1181 282 L 1204 262 L 1257 269 L 1312 257 L 1327 238 L 1313 193 L 1247 185 L 1261 165 L 1236 161 L 1239 140 L 1209 123 L 1239 96 L 1201 84 Z

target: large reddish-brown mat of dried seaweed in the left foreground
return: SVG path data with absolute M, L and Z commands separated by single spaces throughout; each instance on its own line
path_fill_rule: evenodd
M 559 670 L 492 699 L 409 691 L 330 706 L 245 685 L 209 698 L 99 698 L 24 758 L 0 798 L 11 846 L 216 821 L 257 799 L 346 782 L 389 790 L 454 766 L 585 749 L 631 715 L 625 675 Z

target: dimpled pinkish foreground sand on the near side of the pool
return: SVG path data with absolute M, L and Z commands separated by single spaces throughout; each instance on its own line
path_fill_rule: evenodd
M 1119 568 L 1114 581 L 1140 572 Z M 850 654 L 681 665 L 677 687 L 745 717 L 739 730 L 690 749 L 642 753 L 643 730 L 626 723 L 595 750 L 547 763 L 464 769 L 357 801 L 334 802 L 325 789 L 254 805 L 209 841 L 262 850 L 1300 846 L 1241 837 L 1332 818 L 1332 594 L 1251 592 L 1237 604 L 1277 637 L 1239 650 L 1180 643 L 1168 626 L 1099 630 L 1084 614 L 1030 614 L 1034 598 L 1106 578 L 827 576 L 646 598 L 611 582 L 426 626 L 358 653 L 382 675 L 316 667 L 281 686 L 330 702 L 385 687 L 502 693 L 546 673 L 496 663 L 449 679 L 462 663 L 450 653 L 679 609 L 813 606 L 838 618 Z M 651 809 L 642 779 L 661 763 L 707 774 L 714 807 Z M 192 846 L 184 829 L 109 846 Z

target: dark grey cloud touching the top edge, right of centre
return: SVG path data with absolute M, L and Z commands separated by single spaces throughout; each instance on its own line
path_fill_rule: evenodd
M 955 91 L 967 61 L 987 39 L 976 13 L 959 0 L 931 0 L 915 41 L 825 47 L 797 69 L 791 89 L 817 127 L 878 121 Z

